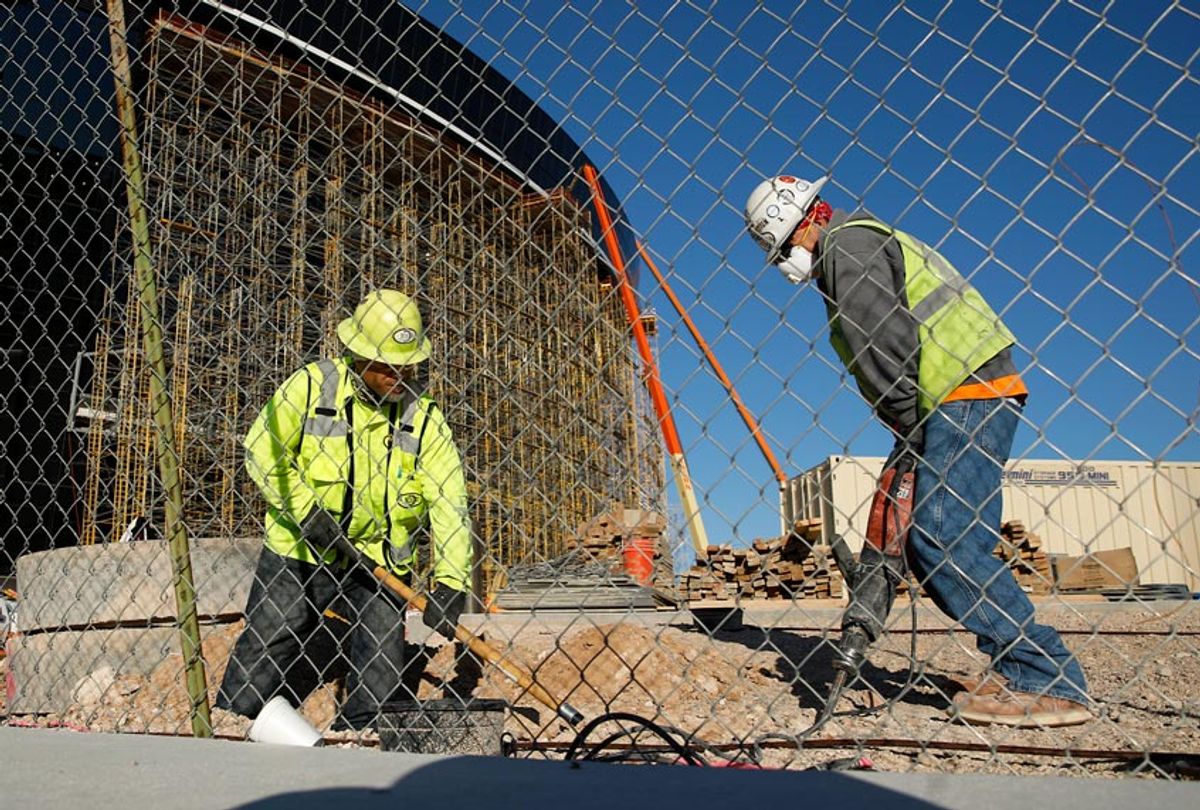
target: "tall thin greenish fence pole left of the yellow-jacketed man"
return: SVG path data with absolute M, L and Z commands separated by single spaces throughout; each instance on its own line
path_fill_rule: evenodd
M 187 695 L 191 698 L 192 734 L 212 736 L 209 714 L 209 690 L 204 677 L 200 648 L 200 622 L 196 614 L 196 586 L 192 583 L 192 557 L 184 526 L 184 488 L 179 478 L 175 451 L 174 419 L 167 397 L 167 362 L 162 350 L 162 324 L 158 316 L 158 287 L 150 259 L 150 223 L 146 220 L 145 181 L 138 156 L 137 116 L 133 109 L 130 54 L 126 48 L 124 0 L 107 0 L 108 34 L 113 47 L 113 79 L 116 84 L 116 113 L 121 120 L 121 157 L 125 166 L 125 190 L 130 198 L 130 229 L 133 235 L 133 278 L 142 314 L 142 344 L 150 368 L 150 407 L 156 427 L 158 472 L 167 496 L 166 534 L 174 571 L 175 614 L 184 649 Z

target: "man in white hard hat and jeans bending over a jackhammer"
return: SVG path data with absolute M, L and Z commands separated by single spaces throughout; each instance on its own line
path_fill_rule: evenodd
M 890 542 L 904 534 L 872 539 L 875 526 L 868 528 L 858 571 L 870 582 L 852 589 L 842 652 L 860 661 L 882 632 L 907 557 L 935 604 L 991 660 L 983 678 L 964 683 L 952 716 L 1021 727 L 1085 722 L 1079 662 L 1057 631 L 1034 623 L 1028 596 L 994 556 L 1001 472 L 1028 394 L 1012 356 L 1015 340 L 935 250 L 870 216 L 834 211 L 820 197 L 827 180 L 766 180 L 745 217 L 788 281 L 816 280 L 839 358 L 895 436 L 881 478 L 887 497 L 876 503 L 902 496 L 912 504 L 906 552 Z M 894 486 L 900 470 L 914 472 L 914 492 Z

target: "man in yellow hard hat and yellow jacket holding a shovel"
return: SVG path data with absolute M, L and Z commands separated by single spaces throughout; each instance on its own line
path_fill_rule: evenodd
M 472 566 L 467 490 L 450 427 L 419 384 L 430 340 L 403 293 L 368 294 L 337 326 L 346 354 L 292 374 L 246 436 L 246 469 L 266 499 L 266 547 L 246 629 L 217 708 L 256 716 L 283 686 L 322 613 L 348 610 L 349 672 L 334 730 L 374 725 L 404 664 L 404 605 L 335 548 L 349 538 L 408 581 L 414 533 L 428 528 L 432 588 L 425 623 L 448 638 Z

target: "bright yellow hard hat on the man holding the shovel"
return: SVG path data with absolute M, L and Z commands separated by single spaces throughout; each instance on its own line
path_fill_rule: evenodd
M 394 289 L 368 293 L 354 314 L 337 324 L 337 337 L 352 354 L 389 366 L 410 366 L 432 352 L 416 301 Z

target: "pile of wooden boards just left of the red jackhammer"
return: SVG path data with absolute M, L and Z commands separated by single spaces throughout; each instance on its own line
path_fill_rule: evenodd
M 709 546 L 684 576 L 684 593 L 689 600 L 840 598 L 841 574 L 815 548 L 820 540 L 820 521 L 798 521 L 791 534 L 755 540 L 749 548 Z

